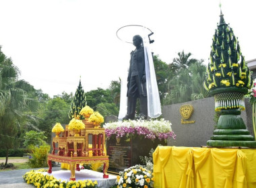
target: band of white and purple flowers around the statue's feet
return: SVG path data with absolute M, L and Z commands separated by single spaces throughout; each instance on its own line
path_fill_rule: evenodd
M 130 137 L 135 134 L 139 136 L 144 136 L 154 140 L 158 138 L 159 140 L 166 140 L 168 137 L 176 138 L 176 135 L 170 127 L 171 123 L 162 120 L 129 120 L 124 122 L 113 122 L 104 124 L 105 134 L 107 138 L 113 135 L 120 137 Z

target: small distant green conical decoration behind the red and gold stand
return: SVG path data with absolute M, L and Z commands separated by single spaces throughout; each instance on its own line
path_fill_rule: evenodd
M 75 96 L 73 97 L 73 101 L 71 103 L 71 108 L 69 111 L 69 119 L 71 120 L 76 116 L 79 117 L 80 120 L 84 119 L 83 115 L 79 115 L 79 112 L 83 107 L 86 106 L 86 93 L 84 93 L 84 89 L 81 85 L 81 79 L 79 81 L 79 85 L 77 90 L 75 91 Z

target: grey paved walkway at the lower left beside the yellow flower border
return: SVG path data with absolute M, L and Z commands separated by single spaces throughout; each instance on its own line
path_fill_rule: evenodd
M 42 168 L 40 168 L 42 169 Z M 45 168 L 48 169 L 48 168 Z M 60 167 L 53 167 L 53 171 L 59 171 Z M 28 185 L 23 179 L 23 175 L 31 170 L 37 169 L 22 169 L 22 170 L 13 170 L 13 171 L 3 171 L 0 172 L 0 188 L 32 188 L 34 185 Z

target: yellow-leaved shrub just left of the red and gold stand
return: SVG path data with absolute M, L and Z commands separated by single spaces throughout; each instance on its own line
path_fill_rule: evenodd
M 51 146 L 46 144 L 39 147 L 30 145 L 32 158 L 28 160 L 28 166 L 30 168 L 48 167 L 47 154 L 49 153 L 50 149 L 51 149 Z

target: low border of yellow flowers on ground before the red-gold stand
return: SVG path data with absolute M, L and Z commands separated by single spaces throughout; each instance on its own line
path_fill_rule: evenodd
M 23 178 L 28 184 L 32 184 L 37 188 L 83 188 L 83 187 L 98 187 L 97 181 L 92 182 L 92 180 L 84 181 L 61 181 L 61 179 L 55 179 L 53 175 L 44 175 L 45 169 L 39 169 L 37 171 L 27 172 Z

